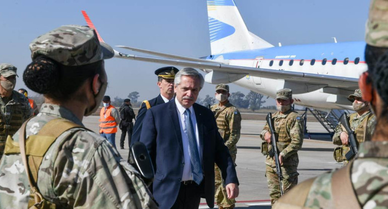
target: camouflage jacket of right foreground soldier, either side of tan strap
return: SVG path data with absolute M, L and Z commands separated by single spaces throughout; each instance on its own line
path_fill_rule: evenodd
M 304 206 L 334 208 L 331 171 L 312 183 Z M 388 141 L 366 141 L 351 169 L 352 184 L 361 208 L 386 208 L 388 205 Z M 292 192 L 292 190 L 290 191 Z

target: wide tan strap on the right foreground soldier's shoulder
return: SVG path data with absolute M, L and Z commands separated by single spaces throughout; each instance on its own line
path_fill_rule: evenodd
M 333 173 L 332 195 L 336 208 L 361 209 L 350 176 L 353 162 Z

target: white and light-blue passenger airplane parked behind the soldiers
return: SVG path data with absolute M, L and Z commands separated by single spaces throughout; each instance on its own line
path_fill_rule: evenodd
M 192 58 L 116 46 L 160 58 L 114 50 L 115 57 L 199 68 L 207 73 L 208 83 L 232 82 L 272 98 L 277 90 L 291 88 L 294 103 L 300 106 L 352 110 L 347 96 L 358 88 L 359 75 L 367 69 L 365 42 L 275 47 L 247 30 L 233 0 L 208 0 L 207 6 L 211 55 Z M 100 36 L 99 40 L 103 42 Z

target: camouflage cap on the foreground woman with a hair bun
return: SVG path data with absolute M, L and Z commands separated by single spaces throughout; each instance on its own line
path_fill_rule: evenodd
M 43 34 L 30 43 L 31 58 L 47 56 L 63 65 L 78 66 L 112 58 L 114 51 L 100 43 L 87 26 L 66 25 Z

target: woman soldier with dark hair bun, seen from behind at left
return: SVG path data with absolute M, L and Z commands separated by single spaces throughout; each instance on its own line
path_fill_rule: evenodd
M 134 167 L 106 139 L 82 124 L 84 116 L 97 110 L 105 93 L 103 59 L 113 57 L 113 49 L 100 44 L 93 29 L 75 25 L 36 38 L 30 49 L 33 61 L 23 80 L 30 89 L 44 93 L 47 103 L 25 130 L 7 139 L 0 163 L 0 208 L 28 208 L 36 202 L 56 208 L 157 208 Z M 39 134 L 53 121 L 59 121 L 58 129 L 64 124 L 78 127 L 60 132 L 47 145 L 46 135 Z M 27 137 L 28 163 L 23 162 L 19 135 Z M 34 164 L 39 154 L 40 166 Z M 29 183 L 29 174 L 35 183 Z M 32 198 L 38 193 L 42 201 Z

